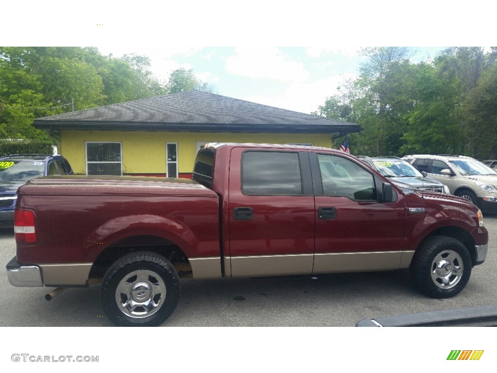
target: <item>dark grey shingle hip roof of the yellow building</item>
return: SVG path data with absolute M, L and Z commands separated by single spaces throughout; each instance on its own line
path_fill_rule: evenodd
M 358 124 L 200 91 L 174 93 L 34 120 L 41 129 L 349 133 Z

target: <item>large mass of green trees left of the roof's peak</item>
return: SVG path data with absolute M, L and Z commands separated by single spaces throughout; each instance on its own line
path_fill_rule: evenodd
M 134 54 L 102 56 L 93 47 L 0 47 L 0 136 L 57 137 L 34 118 L 168 93 Z

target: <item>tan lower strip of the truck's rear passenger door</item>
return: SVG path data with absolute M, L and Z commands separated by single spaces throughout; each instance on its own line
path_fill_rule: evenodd
M 309 275 L 312 273 L 313 260 L 314 254 L 232 257 L 231 276 Z

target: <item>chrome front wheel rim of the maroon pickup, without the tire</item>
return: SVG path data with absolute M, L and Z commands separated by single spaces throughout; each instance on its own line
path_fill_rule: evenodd
M 431 280 L 441 289 L 450 289 L 461 280 L 463 271 L 461 256 L 455 251 L 445 250 L 431 264 Z

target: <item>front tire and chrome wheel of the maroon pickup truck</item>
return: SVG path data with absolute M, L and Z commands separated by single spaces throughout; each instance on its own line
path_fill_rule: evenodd
M 416 250 L 411 266 L 416 287 L 433 298 L 450 298 L 461 292 L 471 269 L 466 246 L 446 236 L 426 239 Z

